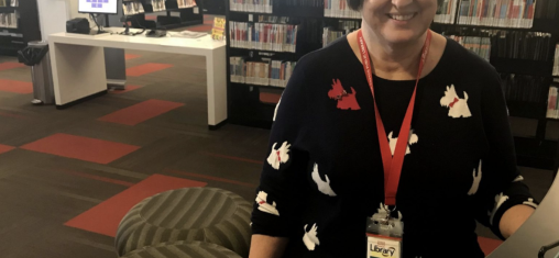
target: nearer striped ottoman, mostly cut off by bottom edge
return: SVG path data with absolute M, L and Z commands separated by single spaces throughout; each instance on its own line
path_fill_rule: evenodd
M 241 258 L 234 251 L 216 244 L 202 242 L 162 243 L 146 246 L 123 256 L 123 258 Z

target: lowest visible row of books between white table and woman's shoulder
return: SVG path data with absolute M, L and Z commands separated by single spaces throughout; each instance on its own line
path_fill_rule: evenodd
M 231 82 L 260 85 L 260 86 L 287 86 L 292 77 L 296 61 L 262 60 L 249 61 L 244 57 L 232 56 L 230 58 Z

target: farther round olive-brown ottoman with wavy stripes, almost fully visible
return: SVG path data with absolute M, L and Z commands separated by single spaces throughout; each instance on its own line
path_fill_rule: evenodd
M 213 243 L 249 256 L 252 205 L 216 188 L 184 188 L 143 200 L 120 222 L 119 256 L 144 246 L 178 240 Z

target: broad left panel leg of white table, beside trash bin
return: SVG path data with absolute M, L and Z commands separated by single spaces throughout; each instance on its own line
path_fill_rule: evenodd
M 102 47 L 50 42 L 56 108 L 107 93 Z

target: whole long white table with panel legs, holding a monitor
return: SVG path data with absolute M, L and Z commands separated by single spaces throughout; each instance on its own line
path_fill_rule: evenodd
M 121 27 L 106 29 L 121 32 Z M 138 30 L 131 30 L 132 32 Z M 48 35 L 54 94 L 57 109 L 107 93 L 105 47 L 163 52 L 206 57 L 208 125 L 217 128 L 227 120 L 226 42 L 200 38 L 125 36 L 117 34 Z

